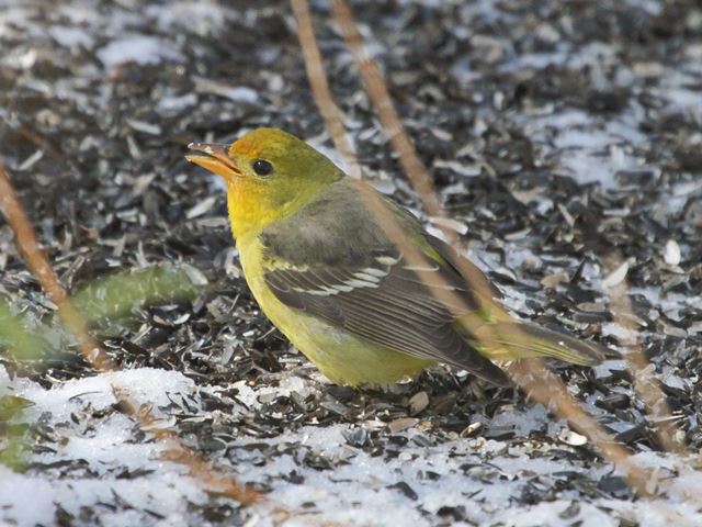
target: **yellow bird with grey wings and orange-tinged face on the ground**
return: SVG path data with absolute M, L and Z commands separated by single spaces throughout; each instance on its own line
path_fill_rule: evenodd
M 477 266 L 296 136 L 257 128 L 231 145 L 189 148 L 189 161 L 224 178 L 261 311 L 331 382 L 376 386 L 448 363 L 509 386 L 506 361 L 605 357 L 595 343 L 512 317 Z

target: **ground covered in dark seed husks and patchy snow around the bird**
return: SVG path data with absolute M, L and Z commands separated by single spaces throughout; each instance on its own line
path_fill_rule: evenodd
M 642 347 L 690 451 L 699 452 L 699 2 L 353 7 L 463 249 L 518 314 L 611 347 L 627 332 L 612 322 L 602 258 L 619 253 Z M 364 168 L 378 188 L 417 209 L 326 2 L 313 8 Z M 192 380 L 181 393 L 192 404 L 161 410 L 195 450 L 285 506 L 342 524 L 407 514 L 428 525 L 646 525 L 648 505 L 521 394 L 443 368 L 386 390 L 336 386 L 258 312 L 222 189 L 183 155 L 191 141 L 229 142 L 263 125 L 330 147 L 286 2 L 2 0 L 0 44 L 0 154 L 67 288 L 79 291 L 117 270 L 183 265 L 205 284 L 190 301 L 135 309 L 94 328 L 122 368 Z M 29 319 L 53 324 L 54 306 L 1 223 L 0 280 L 0 294 Z M 39 360 L 0 356 L 8 390 L 20 393 L 30 381 L 48 390 L 95 374 L 55 327 L 44 338 L 52 352 Z M 686 458 L 655 453 L 660 445 L 623 361 L 558 366 L 558 373 L 642 462 L 668 471 L 661 479 L 699 478 Z M 116 412 L 92 408 L 69 425 L 80 437 Z M 32 423 L 26 476 L 145 478 L 134 468 L 126 470 L 118 460 L 105 475 L 80 456 L 48 467 L 46 452 L 60 442 L 57 424 L 50 413 Z M 132 433 L 126 442 L 148 442 Z M 506 459 L 524 466 L 510 472 L 500 464 Z M 375 472 L 378 481 L 369 483 Z M 319 487 L 326 494 L 313 492 Z M 173 522 L 163 511 L 125 507 L 114 491 L 92 502 L 78 493 L 67 491 L 48 517 L 61 525 Z M 189 523 L 242 524 L 257 514 L 267 522 L 224 498 L 185 494 Z M 23 522 L 12 514 L 4 520 Z

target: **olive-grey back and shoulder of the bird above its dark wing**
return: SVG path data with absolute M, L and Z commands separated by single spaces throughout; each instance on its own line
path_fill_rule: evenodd
M 387 270 L 387 266 L 390 266 L 393 276 L 411 271 L 418 262 L 407 261 L 401 244 L 388 237 L 387 225 L 381 224 L 377 213 L 369 205 L 367 191 L 378 199 L 377 204 L 389 212 L 396 226 L 403 231 L 405 242 L 420 250 L 427 269 L 441 274 L 442 280 L 458 290 L 472 289 L 461 269 L 469 268 L 471 272 L 482 274 L 474 264 L 461 258 L 449 244 L 430 235 L 408 210 L 377 193 L 367 183 L 351 178 L 328 186 L 295 214 L 261 232 L 259 242 L 263 267 L 269 271 L 346 269 L 366 272 L 375 269 L 378 276 Z M 500 296 L 495 287 L 490 284 L 489 288 L 492 296 Z

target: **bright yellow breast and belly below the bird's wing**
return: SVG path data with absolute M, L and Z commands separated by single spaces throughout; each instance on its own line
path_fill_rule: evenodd
M 286 306 L 263 281 L 258 238 L 240 239 L 237 248 L 247 283 L 261 311 L 332 382 L 353 386 L 383 384 L 412 375 L 434 363 L 374 345 Z

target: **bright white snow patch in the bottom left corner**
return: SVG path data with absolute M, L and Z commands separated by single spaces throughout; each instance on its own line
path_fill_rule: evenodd
M 172 404 L 171 400 L 178 396 L 190 397 L 194 385 L 179 372 L 143 368 L 101 373 L 45 390 L 26 379 L 10 380 L 4 368 L 0 368 L 0 393 L 32 401 L 34 404 L 26 408 L 23 418 L 44 419 L 52 424 L 56 436 L 55 452 L 32 455 L 31 460 L 39 463 L 82 460 L 99 474 L 57 480 L 52 478 L 50 469 L 19 474 L 0 466 L 0 523 L 49 525 L 55 523 L 57 504 L 79 516 L 81 507 L 113 502 L 115 495 L 128 507 L 100 507 L 104 525 L 126 527 L 154 519 L 143 511 L 163 516 L 162 525 L 186 523 L 186 501 L 201 503 L 206 495 L 186 475 L 184 467 L 161 460 L 161 444 L 135 440 L 134 422 L 118 412 L 109 412 L 90 423 L 78 417 L 87 408 L 110 410 L 116 402 L 113 389 L 127 386 L 137 405 L 152 405 L 155 415 L 163 416 L 158 406 Z M 120 479 L 124 470 L 140 470 L 144 475 Z

